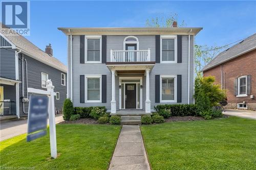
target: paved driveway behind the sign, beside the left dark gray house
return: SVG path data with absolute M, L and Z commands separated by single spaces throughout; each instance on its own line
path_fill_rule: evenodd
M 62 114 L 58 114 L 55 117 L 55 123 L 57 124 L 62 121 L 63 121 Z M 48 125 L 49 125 L 49 120 L 48 120 Z M 13 122 L 1 123 L 0 141 L 27 133 L 27 130 L 28 130 L 28 119 L 20 119 Z

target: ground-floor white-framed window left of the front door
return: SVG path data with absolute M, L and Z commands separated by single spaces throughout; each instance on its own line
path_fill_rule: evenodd
M 101 76 L 86 77 L 86 101 L 101 102 Z

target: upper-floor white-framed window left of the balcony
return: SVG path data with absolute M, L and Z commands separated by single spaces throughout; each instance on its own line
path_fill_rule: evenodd
M 86 36 L 86 62 L 101 62 L 101 36 Z

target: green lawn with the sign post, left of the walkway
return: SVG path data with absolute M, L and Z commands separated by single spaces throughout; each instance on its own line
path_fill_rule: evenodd
M 61 124 L 56 132 L 57 159 L 50 159 L 49 132 L 31 142 L 20 135 L 0 142 L 0 168 L 107 169 L 120 126 Z

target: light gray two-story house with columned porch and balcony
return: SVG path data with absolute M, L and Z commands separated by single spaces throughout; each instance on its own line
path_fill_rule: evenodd
M 113 115 L 194 103 L 194 39 L 202 28 L 58 29 L 68 38 L 74 106 L 105 106 Z

